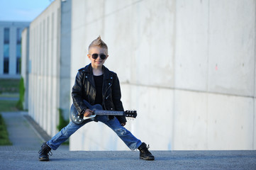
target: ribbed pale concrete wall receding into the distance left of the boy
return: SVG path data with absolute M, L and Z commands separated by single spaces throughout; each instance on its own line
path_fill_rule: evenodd
M 69 1 L 53 1 L 30 24 L 29 115 L 52 136 L 59 109 L 67 117 L 70 107 L 70 7 Z

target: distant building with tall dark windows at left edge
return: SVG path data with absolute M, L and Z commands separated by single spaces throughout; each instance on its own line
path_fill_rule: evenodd
M 20 78 L 21 32 L 29 22 L 0 21 L 0 78 Z

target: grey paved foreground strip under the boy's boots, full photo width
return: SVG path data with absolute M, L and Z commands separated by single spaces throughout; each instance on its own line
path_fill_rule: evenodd
M 255 151 L 153 151 L 155 161 L 138 152 L 55 151 L 50 162 L 39 162 L 36 151 L 2 151 L 1 169 L 256 169 Z

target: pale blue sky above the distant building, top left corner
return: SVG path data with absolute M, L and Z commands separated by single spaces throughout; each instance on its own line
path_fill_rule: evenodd
M 53 0 L 0 0 L 0 21 L 33 21 Z

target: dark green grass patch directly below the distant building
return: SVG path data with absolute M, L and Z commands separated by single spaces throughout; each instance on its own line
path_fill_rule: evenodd
M 0 79 L 0 94 L 18 93 L 20 79 Z

